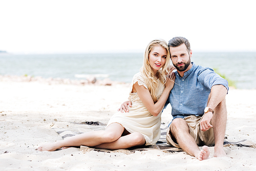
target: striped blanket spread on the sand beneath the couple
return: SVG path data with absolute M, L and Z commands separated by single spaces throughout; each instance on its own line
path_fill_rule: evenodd
M 105 130 L 105 126 L 106 126 L 101 122 L 94 122 L 94 121 L 85 121 L 85 122 L 80 122 L 76 124 L 78 126 L 72 130 L 67 130 L 63 128 L 52 128 L 52 129 L 54 129 L 56 133 L 58 133 L 62 137 L 62 139 L 66 139 L 66 138 L 69 138 L 78 134 L 86 133 L 89 131 Z M 82 126 L 79 126 L 79 125 L 82 125 Z M 111 151 L 108 149 L 96 149 L 96 148 L 91 148 L 91 147 L 81 145 L 80 151 L 83 153 L 87 153 L 90 151 L 97 151 L 97 152 L 105 152 L 105 153 L 121 152 L 124 154 L 132 154 L 132 153 L 135 153 L 136 151 L 148 151 L 148 150 L 159 150 L 165 153 L 183 152 L 182 149 L 176 148 L 170 144 L 167 144 L 167 141 L 165 138 L 167 128 L 168 128 L 168 124 L 161 123 L 161 137 L 155 145 L 137 146 L 137 147 L 131 147 L 127 149 L 118 149 L 115 151 Z M 256 144 L 249 140 L 233 141 L 233 140 L 228 140 L 227 137 L 225 137 L 223 146 L 230 146 L 230 145 L 236 145 L 239 147 L 256 148 Z

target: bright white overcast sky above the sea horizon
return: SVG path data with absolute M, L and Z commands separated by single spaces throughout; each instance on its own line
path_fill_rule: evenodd
M 143 53 L 183 36 L 193 52 L 256 52 L 254 2 L 0 0 L 0 51 Z

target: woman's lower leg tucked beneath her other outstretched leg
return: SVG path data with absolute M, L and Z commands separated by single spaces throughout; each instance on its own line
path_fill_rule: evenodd
M 104 149 L 125 149 L 132 146 L 141 146 L 145 144 L 145 138 L 141 133 L 132 133 L 120 137 L 114 142 L 102 143 L 100 145 L 94 146 L 95 148 L 104 148 Z

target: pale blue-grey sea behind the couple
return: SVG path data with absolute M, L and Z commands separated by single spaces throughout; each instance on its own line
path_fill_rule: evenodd
M 237 89 L 256 89 L 256 52 L 193 52 L 196 65 L 210 67 Z M 130 83 L 139 72 L 143 53 L 0 54 L 0 75 L 97 79 Z

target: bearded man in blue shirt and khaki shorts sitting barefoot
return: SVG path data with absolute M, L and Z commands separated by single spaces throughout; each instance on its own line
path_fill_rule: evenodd
M 168 43 L 175 72 L 175 86 L 169 94 L 173 121 L 166 140 L 199 160 L 209 158 L 209 147 L 215 144 L 214 157 L 224 157 L 223 141 L 226 130 L 228 82 L 210 68 L 190 61 L 192 50 L 184 37 L 174 37 Z M 127 112 L 126 101 L 119 109 Z M 205 145 L 199 149 L 198 145 Z

